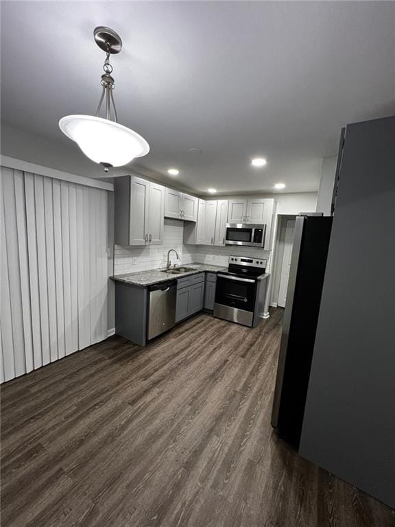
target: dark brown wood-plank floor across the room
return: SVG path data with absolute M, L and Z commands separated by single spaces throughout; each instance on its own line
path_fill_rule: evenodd
M 281 312 L 112 337 L 3 385 L 1 525 L 393 526 L 272 433 Z

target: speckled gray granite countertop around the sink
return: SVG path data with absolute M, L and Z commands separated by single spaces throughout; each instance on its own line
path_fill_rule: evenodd
M 184 266 L 178 267 L 189 267 L 193 268 L 192 271 L 180 272 L 177 274 L 166 274 L 161 272 L 159 269 L 152 269 L 148 271 L 139 272 L 128 272 L 127 274 L 117 274 L 111 277 L 112 280 L 118 282 L 130 283 L 137 285 L 141 288 L 147 287 L 147 285 L 154 285 L 155 283 L 167 282 L 178 278 L 189 277 L 191 274 L 197 274 L 198 272 L 217 272 L 226 271 L 226 267 L 222 266 L 211 266 L 209 264 L 185 264 Z

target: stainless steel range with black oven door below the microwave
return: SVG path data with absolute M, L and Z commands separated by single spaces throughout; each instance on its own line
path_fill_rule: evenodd
M 263 317 L 267 260 L 230 256 L 228 270 L 217 274 L 214 316 L 255 327 Z

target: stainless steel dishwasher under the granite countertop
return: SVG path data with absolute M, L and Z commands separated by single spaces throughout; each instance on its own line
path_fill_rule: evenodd
M 147 340 L 157 337 L 176 324 L 176 300 L 176 280 L 149 286 Z

